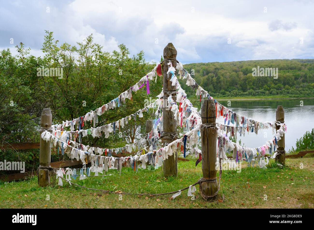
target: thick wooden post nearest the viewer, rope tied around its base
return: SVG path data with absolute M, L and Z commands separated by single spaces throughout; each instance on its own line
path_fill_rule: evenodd
M 214 100 L 204 100 L 202 106 L 202 171 L 203 179 L 200 184 L 202 197 L 211 196 L 218 190 L 217 184 L 217 127 Z M 204 195 L 204 196 L 203 196 Z

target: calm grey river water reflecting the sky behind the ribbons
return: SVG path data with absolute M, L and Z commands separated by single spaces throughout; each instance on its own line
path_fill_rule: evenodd
M 224 106 L 228 105 L 228 101 L 218 101 Z M 230 106 L 227 107 L 236 114 L 268 122 L 276 120 L 277 105 L 284 107 L 284 121 L 287 125 L 285 150 L 288 151 L 292 147 L 295 148 L 297 139 L 300 139 L 306 131 L 314 128 L 314 99 L 230 100 Z M 223 119 L 219 118 L 217 122 L 223 124 Z M 244 137 L 240 137 L 237 134 L 237 141 L 241 140 L 241 145 L 245 144 L 247 147 L 254 148 L 264 145 L 272 137 L 272 129 L 266 129 L 260 130 L 257 135 L 246 132 Z

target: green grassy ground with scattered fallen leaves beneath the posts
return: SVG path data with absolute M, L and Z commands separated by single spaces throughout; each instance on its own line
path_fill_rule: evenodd
M 301 163 L 303 169 L 300 169 Z M 40 188 L 37 177 L 33 177 L 26 181 L 0 182 L 0 208 L 314 208 L 314 158 L 288 158 L 286 165 L 279 168 L 271 161 L 264 170 L 246 167 L 243 163 L 240 173 L 223 171 L 221 191 L 210 202 L 203 201 L 198 186 L 195 200 L 187 197 L 187 190 L 174 200 L 170 199 L 171 195 L 122 195 L 119 200 L 118 194 L 70 187 L 65 181 L 63 187 Z M 130 168 L 122 171 L 121 176 L 90 177 L 75 182 L 112 191 L 161 193 L 187 187 L 202 176 L 201 164 L 195 167 L 192 158 L 178 162 L 177 178 L 164 178 L 162 168 L 138 173 Z M 50 200 L 46 200 L 47 195 Z M 265 195 L 267 200 L 264 200 Z

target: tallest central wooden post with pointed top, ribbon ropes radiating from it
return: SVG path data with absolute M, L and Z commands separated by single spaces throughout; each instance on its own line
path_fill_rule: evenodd
M 162 140 L 165 143 L 170 143 L 177 139 L 176 134 L 176 120 L 174 119 L 173 113 L 170 110 L 170 106 L 168 107 L 167 101 L 168 96 L 172 95 L 172 98 L 175 98 L 176 95 L 176 86 L 171 86 L 172 82 L 170 81 L 171 75 L 168 76 L 167 71 L 169 61 L 172 63 L 172 66 L 176 68 L 176 48 L 172 43 L 168 43 L 168 45 L 164 49 L 164 63 L 163 63 L 163 91 L 164 91 L 164 102 L 163 102 L 163 133 Z M 163 163 L 164 176 L 177 176 L 178 175 L 178 154 L 173 154 L 169 156 Z

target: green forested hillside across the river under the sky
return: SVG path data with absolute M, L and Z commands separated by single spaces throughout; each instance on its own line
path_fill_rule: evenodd
M 278 79 L 252 76 L 257 66 L 278 68 Z M 192 63 L 184 68 L 189 73 L 194 69 L 192 77 L 215 97 L 314 97 L 314 59 Z

